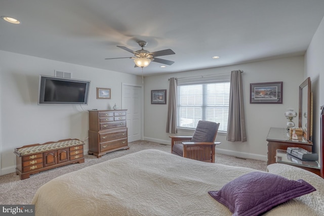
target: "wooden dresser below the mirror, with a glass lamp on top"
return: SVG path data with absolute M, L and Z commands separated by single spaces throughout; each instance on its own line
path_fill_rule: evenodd
M 313 144 L 304 138 L 300 140 L 290 139 L 289 131 L 286 128 L 271 127 L 267 136 L 268 141 L 268 165 L 276 162 L 277 149 L 287 150 L 288 147 L 300 147 L 312 151 Z

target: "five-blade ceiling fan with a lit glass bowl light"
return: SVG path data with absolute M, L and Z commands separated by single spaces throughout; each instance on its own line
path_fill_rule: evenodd
M 133 51 L 127 47 L 117 46 L 123 50 L 133 53 L 135 55 L 134 57 L 121 57 L 121 58 L 108 58 L 108 59 L 134 59 L 135 67 L 141 67 L 141 68 L 148 66 L 151 61 L 161 63 L 161 64 L 166 64 L 166 65 L 172 65 L 174 63 L 174 61 L 155 58 L 157 56 L 167 56 L 167 55 L 175 54 L 175 52 L 173 52 L 171 49 L 160 50 L 160 51 L 150 53 L 149 51 L 143 49 L 147 45 L 146 41 L 140 40 L 137 43 L 142 48 L 141 50 Z

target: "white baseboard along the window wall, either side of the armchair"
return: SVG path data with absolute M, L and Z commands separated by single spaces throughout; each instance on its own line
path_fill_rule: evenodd
M 171 145 L 171 139 L 169 141 L 166 141 L 166 140 L 144 137 L 144 140 L 150 141 L 150 142 L 155 142 L 155 143 Z M 241 157 L 241 158 L 249 158 L 249 159 L 263 160 L 263 161 L 268 160 L 268 157 L 266 155 L 253 154 L 253 153 L 248 153 L 248 152 L 238 152 L 238 151 L 232 151 L 232 150 L 227 150 L 227 149 L 220 149 L 220 148 L 217 148 L 217 146 L 216 146 L 216 152 L 220 153 L 220 154 L 226 154 L 226 155 L 231 155 L 231 156 Z

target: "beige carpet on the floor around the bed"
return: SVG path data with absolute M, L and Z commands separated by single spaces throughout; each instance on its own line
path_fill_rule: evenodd
M 0 204 L 30 204 L 32 198 L 39 187 L 48 181 L 72 172 L 82 169 L 86 166 L 100 163 L 112 158 L 120 157 L 126 154 L 138 152 L 144 149 L 158 149 L 161 151 L 170 152 L 170 145 L 162 145 L 147 141 L 136 141 L 129 143 L 129 150 L 119 150 L 110 152 L 97 158 L 93 155 L 85 155 L 85 163 L 69 164 L 58 168 L 39 172 L 38 174 L 30 175 L 29 179 L 20 180 L 19 176 L 15 173 L 0 176 Z M 216 150 L 217 151 L 217 150 Z M 233 156 L 216 154 L 216 163 L 250 167 L 262 171 L 266 171 L 266 161 L 252 160 L 252 159 L 239 159 Z

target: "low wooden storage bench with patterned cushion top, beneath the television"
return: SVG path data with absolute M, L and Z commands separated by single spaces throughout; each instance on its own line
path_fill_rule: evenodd
M 30 174 L 47 169 L 70 163 L 83 163 L 84 144 L 77 139 L 66 139 L 16 148 L 16 174 L 23 180 L 28 179 Z

